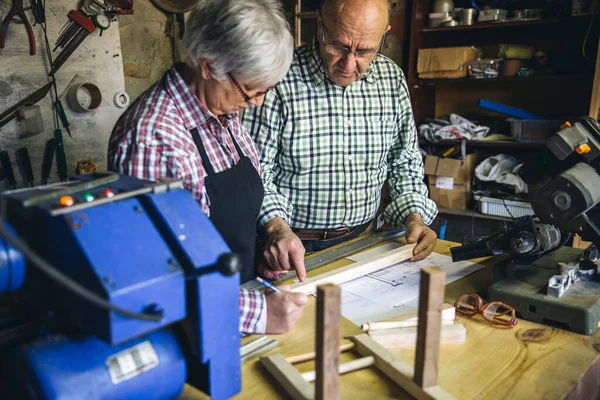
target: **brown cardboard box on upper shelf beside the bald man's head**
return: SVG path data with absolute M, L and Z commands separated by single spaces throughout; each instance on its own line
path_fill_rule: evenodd
M 472 46 L 419 49 L 419 78 L 464 78 L 470 61 L 477 60 L 479 49 Z

